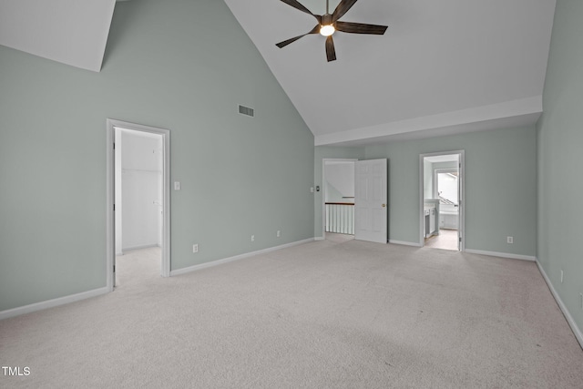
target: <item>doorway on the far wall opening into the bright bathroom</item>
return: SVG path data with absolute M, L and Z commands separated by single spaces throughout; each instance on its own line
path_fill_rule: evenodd
M 422 246 L 463 251 L 463 162 L 463 150 L 420 157 Z

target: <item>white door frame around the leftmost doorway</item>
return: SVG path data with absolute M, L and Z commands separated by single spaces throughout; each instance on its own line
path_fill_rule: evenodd
M 115 153 L 114 142 L 116 128 L 127 128 L 135 131 L 149 132 L 162 136 L 162 148 L 164 150 L 164 167 L 162 169 L 162 277 L 170 276 L 170 131 L 164 128 L 154 128 L 121 120 L 107 118 L 107 144 L 106 144 L 106 286 L 107 291 L 112 292 L 115 284 L 115 258 L 116 258 L 116 218 L 115 218 Z

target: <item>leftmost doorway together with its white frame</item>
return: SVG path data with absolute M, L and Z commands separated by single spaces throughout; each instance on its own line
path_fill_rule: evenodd
M 169 277 L 169 200 L 169 130 L 107 119 L 109 291 L 119 265 L 125 277 L 128 265 L 138 280 L 148 271 Z

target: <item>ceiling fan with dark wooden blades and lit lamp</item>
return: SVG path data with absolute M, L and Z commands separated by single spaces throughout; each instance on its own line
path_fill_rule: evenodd
M 384 35 L 384 31 L 386 31 L 387 26 L 341 22 L 338 20 L 353 7 L 357 0 L 342 0 L 340 4 L 336 6 L 336 9 L 334 9 L 332 15 L 328 9 L 328 1 L 329 0 L 326 0 L 326 14 L 314 15 L 308 8 L 301 5 L 297 0 L 281 0 L 281 2 L 287 5 L 292 5 L 292 7 L 316 18 L 318 24 L 313 27 L 310 32 L 303 34 L 302 36 L 307 36 L 310 34 L 321 34 L 322 36 L 326 36 L 326 59 L 328 59 L 328 62 L 336 60 L 336 50 L 334 49 L 334 41 L 332 40 L 332 34 L 334 34 L 336 31 L 352 34 L 373 34 L 378 36 Z M 291 39 L 287 39 L 276 44 L 275 46 L 280 48 L 288 46 L 289 44 L 300 39 L 302 36 L 294 36 Z

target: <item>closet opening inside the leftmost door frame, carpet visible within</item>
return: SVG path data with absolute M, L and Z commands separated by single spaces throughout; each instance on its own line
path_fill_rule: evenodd
M 116 285 L 159 275 L 162 261 L 162 135 L 115 127 Z

